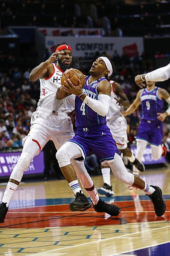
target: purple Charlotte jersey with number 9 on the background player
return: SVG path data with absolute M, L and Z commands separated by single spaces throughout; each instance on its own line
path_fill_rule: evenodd
M 163 100 L 158 96 L 159 87 L 152 90 L 144 88 L 141 93 L 142 117 L 146 120 L 158 120 L 157 113 L 163 112 Z

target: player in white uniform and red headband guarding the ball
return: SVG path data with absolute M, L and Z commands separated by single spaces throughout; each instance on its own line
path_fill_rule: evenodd
M 55 61 L 56 60 L 56 61 Z M 53 62 L 56 63 L 53 63 Z M 44 62 L 33 68 L 29 79 L 40 80 L 40 98 L 37 109 L 31 116 L 31 127 L 22 140 L 23 149 L 14 166 L 0 203 L 0 222 L 4 222 L 8 204 L 18 187 L 23 172 L 29 166 L 33 157 L 42 150 L 51 139 L 56 149 L 74 136 L 73 125 L 68 113 L 74 109 L 74 95 L 63 99 L 56 98 L 56 92 L 61 86 L 61 75 L 70 67 L 76 67 L 76 57 L 72 57 L 72 48 L 67 44 L 56 47 L 55 52 Z M 77 181 L 78 183 L 78 181 Z M 80 186 L 78 185 L 79 189 Z M 85 196 L 84 196 L 85 197 Z M 86 197 L 84 198 L 87 199 Z M 87 203 L 90 206 L 90 203 Z

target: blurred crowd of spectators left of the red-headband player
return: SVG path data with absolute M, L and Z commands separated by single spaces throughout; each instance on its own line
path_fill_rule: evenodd
M 28 79 L 30 70 L 19 67 L 0 72 L 0 149 L 21 147 L 36 109 L 39 84 Z

